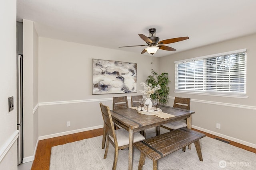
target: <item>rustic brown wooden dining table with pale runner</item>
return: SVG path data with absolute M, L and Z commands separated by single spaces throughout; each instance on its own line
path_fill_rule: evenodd
M 174 117 L 163 119 L 156 115 L 138 113 L 137 109 L 132 108 L 110 110 L 114 123 L 129 131 L 129 170 L 132 170 L 134 132 L 143 131 L 152 127 L 158 127 L 159 129 L 160 125 L 180 119 L 186 119 L 187 128 L 191 129 L 192 113 L 195 113 L 195 111 L 162 105 L 159 107 L 163 113 L 174 115 Z

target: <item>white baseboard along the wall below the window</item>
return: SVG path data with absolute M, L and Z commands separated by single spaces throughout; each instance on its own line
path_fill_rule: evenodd
M 210 133 L 212 135 L 216 135 L 218 137 L 222 137 L 222 138 L 225 138 L 225 139 L 228 139 L 230 141 L 234 141 L 236 143 L 240 143 L 242 145 L 246 145 L 248 147 L 252 147 L 252 148 L 255 148 L 256 149 L 256 145 L 253 144 L 253 143 L 249 143 L 249 142 L 246 142 L 246 141 L 242 141 L 240 139 L 236 139 L 234 137 L 230 137 L 230 136 L 227 136 L 227 135 L 223 135 L 221 133 L 217 133 L 217 132 L 214 132 L 214 131 L 210 131 L 210 130 L 207 130 L 207 129 L 204 129 L 204 128 L 201 128 L 201 127 L 197 127 L 197 126 L 194 126 L 192 125 L 192 128 L 194 129 L 197 129 L 197 130 L 200 130 L 200 131 L 203 131 L 203 132 L 206 132 L 206 133 Z

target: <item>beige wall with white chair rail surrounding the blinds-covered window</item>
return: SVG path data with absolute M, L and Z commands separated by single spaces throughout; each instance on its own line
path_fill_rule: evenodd
M 160 71 L 168 72 L 171 80 L 170 96 L 191 98 L 192 125 L 199 130 L 228 138 L 238 143 L 256 147 L 254 124 L 256 120 L 256 34 L 216 43 L 160 59 Z M 196 94 L 174 93 L 174 61 L 217 54 L 237 49 L 247 49 L 247 96 L 248 98 L 228 98 Z M 173 100 L 169 102 L 170 106 Z M 221 129 L 216 129 L 216 123 Z

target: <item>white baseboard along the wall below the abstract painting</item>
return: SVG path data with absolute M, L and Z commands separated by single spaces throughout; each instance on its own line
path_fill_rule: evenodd
M 51 135 L 40 136 L 40 137 L 38 137 L 38 140 L 49 139 L 49 138 L 59 137 L 59 136 L 64 136 L 64 135 L 70 135 L 70 134 L 73 134 L 73 133 L 90 131 L 90 130 L 100 129 L 100 128 L 103 128 L 103 125 L 98 125 L 98 126 L 93 126 L 93 127 L 86 127 L 86 128 L 83 128 L 83 129 L 76 129 L 76 130 L 73 130 L 73 131 L 66 131 L 66 132 L 61 132 L 61 133 L 54 133 L 54 134 L 51 134 Z

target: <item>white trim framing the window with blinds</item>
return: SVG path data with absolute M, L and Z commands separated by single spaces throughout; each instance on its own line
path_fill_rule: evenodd
M 239 49 L 239 50 L 228 51 L 228 52 L 224 52 L 224 53 L 217 53 L 217 54 L 212 54 L 212 55 L 206 55 L 206 56 L 201 56 L 201 57 L 195 57 L 195 58 L 190 58 L 190 59 L 174 61 L 174 64 L 176 65 L 176 63 L 196 61 L 199 59 L 205 59 L 205 58 L 210 58 L 210 57 L 217 57 L 217 56 L 221 56 L 221 55 L 228 55 L 228 54 L 241 53 L 241 52 L 247 52 L 247 49 Z M 175 78 L 174 79 L 176 81 L 176 66 L 175 66 Z M 245 84 L 246 83 L 247 82 L 245 82 Z M 175 82 L 175 84 L 176 84 L 176 82 Z M 246 90 L 246 92 L 247 92 L 247 90 Z M 198 92 L 198 91 L 194 91 L 194 90 L 191 90 L 191 91 L 190 90 L 182 90 L 182 89 L 179 90 L 179 89 L 175 89 L 175 87 L 174 87 L 174 93 L 198 94 L 198 95 L 206 95 L 206 96 L 221 96 L 221 97 L 230 97 L 230 98 L 248 98 L 249 97 L 249 96 L 246 96 L 246 94 L 240 94 L 240 95 L 235 94 L 235 93 L 239 93 L 239 92 L 234 92 L 233 94 L 230 94 L 229 92 L 210 92 L 210 91 Z

